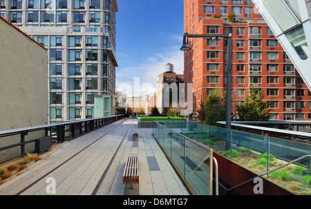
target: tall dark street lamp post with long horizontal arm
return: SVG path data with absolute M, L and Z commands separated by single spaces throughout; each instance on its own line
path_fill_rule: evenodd
M 227 38 L 227 97 L 226 97 L 226 128 L 231 129 L 231 112 L 232 112 L 232 33 L 228 35 L 218 35 L 218 34 L 189 34 L 185 33 L 183 38 L 183 44 L 180 48 L 181 51 L 191 50 L 189 46 L 189 37 L 200 37 L 207 39 L 222 39 Z

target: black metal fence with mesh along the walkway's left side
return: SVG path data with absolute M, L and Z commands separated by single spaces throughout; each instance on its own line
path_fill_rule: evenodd
M 84 134 L 109 125 L 124 115 L 59 122 L 37 127 L 0 131 L 0 163 L 23 156 L 26 152 L 41 153 L 53 143 L 73 140 Z

